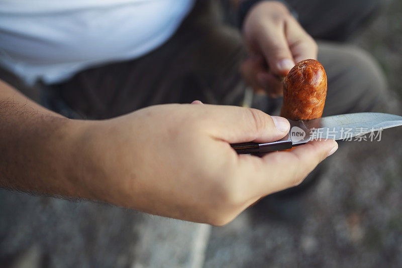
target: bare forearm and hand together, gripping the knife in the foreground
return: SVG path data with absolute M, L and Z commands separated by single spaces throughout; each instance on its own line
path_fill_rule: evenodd
M 1 81 L 0 100 L 0 187 L 215 225 L 297 185 L 337 149 L 330 140 L 239 156 L 231 143 L 276 141 L 289 130 L 284 118 L 243 107 L 165 104 L 71 120 Z

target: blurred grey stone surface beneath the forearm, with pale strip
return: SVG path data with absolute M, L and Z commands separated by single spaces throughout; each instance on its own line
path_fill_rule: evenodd
M 202 266 L 211 226 L 0 190 L 0 267 Z

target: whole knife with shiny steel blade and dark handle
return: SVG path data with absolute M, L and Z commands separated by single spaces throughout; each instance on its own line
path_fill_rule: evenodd
M 314 139 L 348 140 L 374 131 L 402 125 L 402 116 L 379 112 L 358 112 L 312 120 L 289 120 L 290 130 L 283 139 L 271 143 L 231 144 L 238 154 L 267 153 L 290 149 Z

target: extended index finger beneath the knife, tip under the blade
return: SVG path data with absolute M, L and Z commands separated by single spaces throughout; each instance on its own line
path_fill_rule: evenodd
M 248 180 L 250 196 L 265 196 L 293 187 L 325 158 L 338 149 L 333 140 L 312 141 L 289 152 L 274 152 L 258 158 L 250 155 L 239 156 L 239 167 Z

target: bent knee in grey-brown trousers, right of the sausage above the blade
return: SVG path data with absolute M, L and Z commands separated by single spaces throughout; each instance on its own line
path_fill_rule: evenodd
M 368 53 L 356 47 L 333 44 L 321 44 L 320 49 L 319 60 L 328 77 L 326 115 L 374 111 L 381 107 L 386 81 Z

